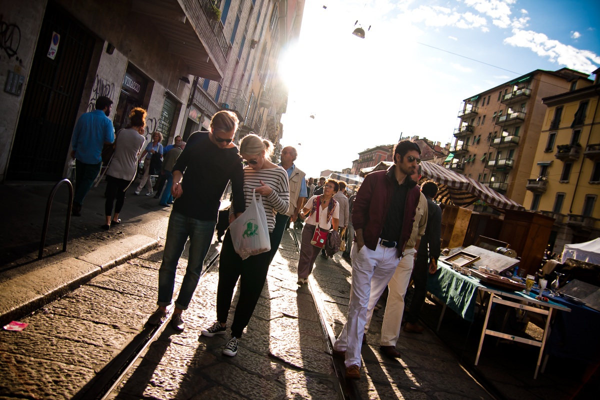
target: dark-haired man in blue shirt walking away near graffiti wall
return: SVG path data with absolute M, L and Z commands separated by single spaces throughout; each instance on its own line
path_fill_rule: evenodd
M 94 184 L 102 167 L 104 143 L 115 142 L 115 128 L 108 118 L 113 101 L 108 97 L 98 97 L 96 109 L 80 116 L 73 139 L 71 157 L 75 159 L 75 195 L 73 215 L 81 216 L 83 199 Z

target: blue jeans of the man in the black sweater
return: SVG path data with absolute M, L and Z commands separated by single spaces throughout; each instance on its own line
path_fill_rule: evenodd
M 158 302 L 157 305 L 167 307 L 173 299 L 177 263 L 184 252 L 185 242 L 190 238 L 190 257 L 185 269 L 184 281 L 179 290 L 175 306 L 187 309 L 191 296 L 194 295 L 198 279 L 202 274 L 204 258 L 211 245 L 217 221 L 200 221 L 172 211 L 167 228 L 167 239 L 164 243 L 163 263 L 158 270 Z

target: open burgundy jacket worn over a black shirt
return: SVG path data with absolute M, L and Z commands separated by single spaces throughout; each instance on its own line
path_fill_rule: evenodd
M 362 229 L 365 246 L 373 251 L 379 243 L 383 221 L 392 199 L 392 179 L 396 179 L 394 168 L 395 166 L 391 166 L 387 171 L 377 171 L 367 175 L 354 201 L 352 225 L 355 230 Z M 412 188 L 409 189 L 406 196 L 404 222 L 401 237 L 398 237 L 398 243 L 400 243 L 398 257 L 402 256 L 406 242 L 410 239 L 412 225 L 415 222 L 416 207 L 419 204 L 419 196 L 421 196 L 416 182 L 409 176 L 406 179 L 409 179 Z

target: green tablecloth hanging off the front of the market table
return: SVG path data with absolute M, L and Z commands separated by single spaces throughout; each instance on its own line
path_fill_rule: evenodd
M 427 278 L 427 290 L 467 321 L 473 321 L 479 279 L 461 275 L 439 261 L 437 272 Z

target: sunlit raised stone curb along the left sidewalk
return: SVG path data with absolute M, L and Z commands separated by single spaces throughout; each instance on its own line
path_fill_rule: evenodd
M 67 258 L 0 282 L 0 326 L 25 317 L 94 276 L 157 248 L 159 244 L 157 239 L 136 234 L 103 245 L 81 257 Z

